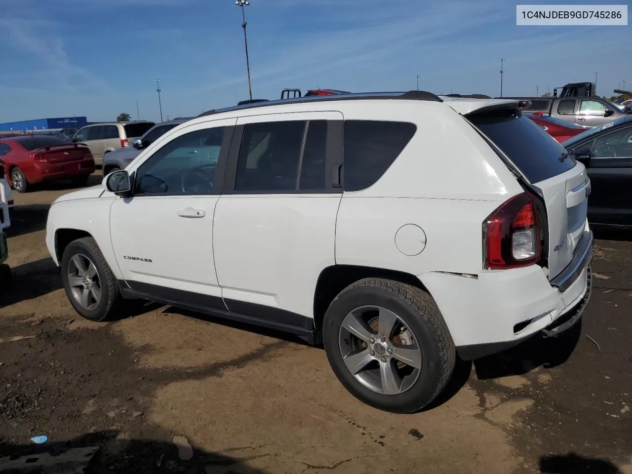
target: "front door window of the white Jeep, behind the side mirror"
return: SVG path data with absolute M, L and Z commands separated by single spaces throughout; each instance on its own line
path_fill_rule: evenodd
M 210 195 L 225 127 L 191 131 L 166 143 L 137 171 L 137 195 Z

